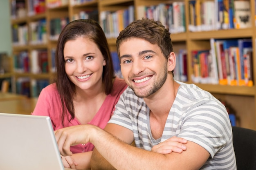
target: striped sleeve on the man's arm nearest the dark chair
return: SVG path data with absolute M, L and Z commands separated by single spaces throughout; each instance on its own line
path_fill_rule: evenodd
M 186 114 L 178 137 L 202 146 L 213 158 L 232 139 L 229 125 L 225 107 L 211 101 L 196 106 Z

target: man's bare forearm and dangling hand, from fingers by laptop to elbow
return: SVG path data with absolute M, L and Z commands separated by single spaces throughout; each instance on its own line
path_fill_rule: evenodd
M 191 141 L 187 142 L 188 149 L 181 154 L 172 152 L 163 155 L 143 150 L 126 144 L 109 132 L 93 125 L 71 126 L 56 130 L 55 137 L 63 156 L 72 155 L 70 145 L 91 142 L 117 170 L 198 170 L 210 156 L 202 146 Z M 121 139 L 123 138 L 125 137 Z

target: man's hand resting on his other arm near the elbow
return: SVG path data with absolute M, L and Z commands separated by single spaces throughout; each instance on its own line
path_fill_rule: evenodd
M 184 145 L 186 143 L 186 139 L 173 136 L 166 141 L 153 146 L 151 151 L 161 154 L 168 154 L 171 152 L 182 153 L 184 150 L 186 150 L 186 146 Z

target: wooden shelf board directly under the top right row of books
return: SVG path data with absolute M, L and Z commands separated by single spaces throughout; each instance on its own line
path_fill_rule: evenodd
M 191 40 L 203 40 L 203 39 L 229 39 L 229 38 L 249 38 L 253 36 L 253 29 L 227 29 L 216 31 L 202 31 L 189 33 L 189 39 Z

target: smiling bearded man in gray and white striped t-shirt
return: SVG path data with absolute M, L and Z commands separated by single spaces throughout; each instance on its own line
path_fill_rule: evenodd
M 92 169 L 236 170 L 225 106 L 197 86 L 173 80 L 172 48 L 158 21 L 137 20 L 121 31 L 117 52 L 129 87 L 105 131 L 91 125 L 57 131 L 61 154 L 91 142 Z

